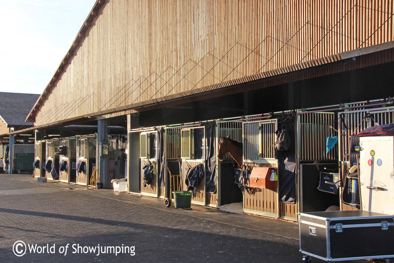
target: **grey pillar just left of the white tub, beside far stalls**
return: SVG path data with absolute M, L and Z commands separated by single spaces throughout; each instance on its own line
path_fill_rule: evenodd
M 96 166 L 98 182 L 103 184 L 103 188 L 108 188 L 111 184 L 108 176 L 108 155 L 103 152 L 103 146 L 108 147 L 108 119 L 97 121 L 97 153 Z M 108 148 L 107 148 L 108 149 Z

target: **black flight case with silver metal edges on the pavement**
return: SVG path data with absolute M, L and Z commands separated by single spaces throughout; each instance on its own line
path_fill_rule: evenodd
M 392 215 L 369 211 L 300 213 L 300 252 L 326 261 L 394 257 Z

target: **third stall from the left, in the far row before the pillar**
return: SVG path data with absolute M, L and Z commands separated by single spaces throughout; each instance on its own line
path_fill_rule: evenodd
M 77 138 L 61 138 L 58 153 L 59 180 L 64 183 L 76 183 Z

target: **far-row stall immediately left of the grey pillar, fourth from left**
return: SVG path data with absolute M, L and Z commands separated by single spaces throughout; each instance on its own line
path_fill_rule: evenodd
M 84 186 L 94 186 L 96 183 L 96 150 L 97 136 L 77 136 L 77 166 L 76 183 Z M 94 180 L 94 181 L 92 181 Z

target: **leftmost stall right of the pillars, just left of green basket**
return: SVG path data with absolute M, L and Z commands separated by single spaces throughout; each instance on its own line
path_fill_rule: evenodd
M 170 197 L 170 174 L 180 175 L 180 127 L 160 126 L 130 130 L 129 191 L 151 197 Z

